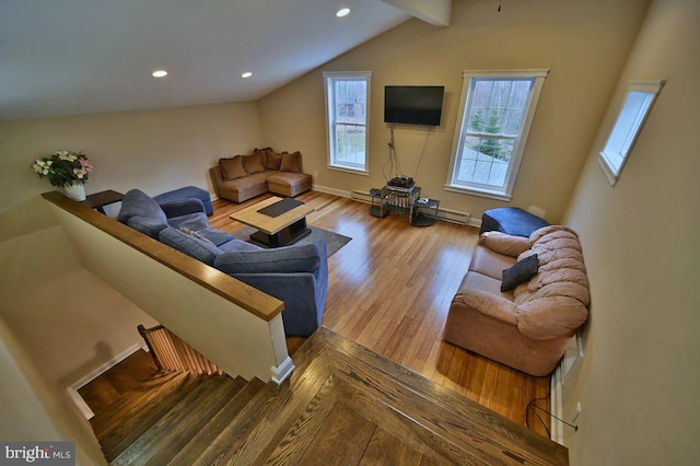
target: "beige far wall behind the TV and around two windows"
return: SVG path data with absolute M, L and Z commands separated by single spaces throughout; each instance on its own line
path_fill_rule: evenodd
M 585 2 L 524 0 L 501 13 L 491 0 L 454 2 L 445 28 L 410 20 L 326 63 L 260 101 L 266 144 L 300 150 L 314 182 L 342 191 L 385 183 L 388 126 L 384 85 L 445 85 L 443 124 L 429 137 L 416 176 L 441 207 L 480 218 L 494 207 L 538 206 L 558 222 L 584 165 L 600 117 L 643 19 L 649 0 Z M 521 172 L 509 202 L 443 189 L 457 121 L 463 70 L 550 69 Z M 372 71 L 371 176 L 326 168 L 322 71 Z M 427 129 L 397 126 L 396 148 L 406 175 L 416 175 Z

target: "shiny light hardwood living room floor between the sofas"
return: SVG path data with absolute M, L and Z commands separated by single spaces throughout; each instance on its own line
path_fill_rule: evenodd
M 212 226 L 233 232 L 236 205 L 214 202 Z M 363 202 L 311 191 L 298 199 L 316 210 L 308 223 L 352 241 L 329 259 L 324 326 L 523 426 L 527 404 L 549 395 L 549 377 L 532 377 L 442 340 L 450 302 L 478 240 L 478 230 L 447 222 L 408 224 L 406 215 L 370 215 Z M 299 341 L 294 341 L 299 347 Z M 294 348 L 290 345 L 290 352 Z M 549 409 L 548 399 L 539 406 Z M 549 436 L 528 419 L 535 432 Z

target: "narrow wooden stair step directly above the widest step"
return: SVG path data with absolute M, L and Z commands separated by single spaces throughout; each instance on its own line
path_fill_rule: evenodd
M 241 415 L 243 409 L 252 403 L 253 398 L 266 386 L 259 378 L 253 378 L 236 394 L 218 413 L 207 423 L 173 458 L 168 465 L 190 466 L 202 457 L 217 436 Z M 246 412 L 248 415 L 249 412 Z M 213 454 L 212 454 L 213 455 Z M 153 457 L 145 466 L 160 466 L 165 464 L 163 458 Z M 159 462 L 160 461 L 160 462 Z

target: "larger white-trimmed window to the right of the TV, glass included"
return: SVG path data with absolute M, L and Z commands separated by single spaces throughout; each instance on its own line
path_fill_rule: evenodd
M 549 70 L 464 71 L 447 190 L 510 200 Z

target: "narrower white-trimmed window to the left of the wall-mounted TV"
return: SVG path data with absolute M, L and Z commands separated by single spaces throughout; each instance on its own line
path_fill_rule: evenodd
M 324 71 L 328 167 L 369 173 L 371 71 Z

